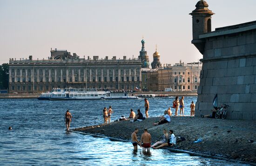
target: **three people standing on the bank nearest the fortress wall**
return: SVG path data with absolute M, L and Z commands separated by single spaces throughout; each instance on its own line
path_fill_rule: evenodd
M 173 108 L 175 108 L 175 116 L 178 116 L 178 109 L 180 108 L 180 116 L 184 116 L 184 96 L 179 100 L 177 96 L 173 101 Z M 190 104 L 190 116 L 194 116 L 195 113 L 195 104 L 194 101 Z

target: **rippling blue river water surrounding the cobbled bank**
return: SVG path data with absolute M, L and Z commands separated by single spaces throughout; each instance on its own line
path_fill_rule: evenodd
M 160 116 L 173 98 L 149 99 L 149 116 Z M 185 98 L 185 114 L 196 97 Z M 237 165 L 221 160 L 192 157 L 168 150 L 151 150 L 150 155 L 133 152 L 131 143 L 94 138 L 66 132 L 64 115 L 73 116 L 71 128 L 102 123 L 102 109 L 112 106 L 116 120 L 128 116 L 130 108 L 141 108 L 144 100 L 44 101 L 37 99 L 0 99 L 0 165 Z M 172 110 L 174 113 L 174 111 Z M 9 131 L 8 126 L 13 130 Z M 141 133 L 139 133 L 141 134 Z

